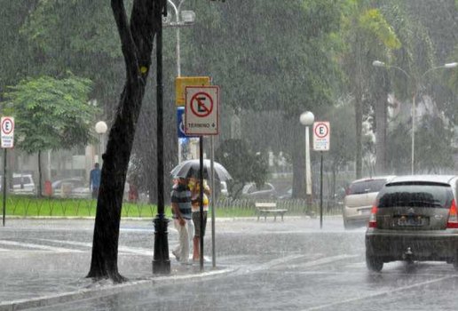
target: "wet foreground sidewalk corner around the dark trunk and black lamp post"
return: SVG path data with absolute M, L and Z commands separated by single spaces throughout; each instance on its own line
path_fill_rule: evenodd
M 91 254 L 43 252 L 38 256 L 15 260 L 14 256 L 5 256 L 4 252 L 0 252 L 0 311 L 46 307 L 126 291 L 147 283 L 176 282 L 231 272 L 231 268 L 227 267 L 213 269 L 211 262 L 206 262 L 201 272 L 199 264 L 180 265 L 170 254 L 170 275 L 153 275 L 153 258 L 120 254 L 119 271 L 129 281 L 121 284 L 110 280 L 93 283 L 84 277 L 89 272 Z

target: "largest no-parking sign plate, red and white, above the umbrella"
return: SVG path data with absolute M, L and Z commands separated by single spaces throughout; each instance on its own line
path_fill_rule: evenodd
M 186 86 L 186 135 L 219 133 L 219 86 Z

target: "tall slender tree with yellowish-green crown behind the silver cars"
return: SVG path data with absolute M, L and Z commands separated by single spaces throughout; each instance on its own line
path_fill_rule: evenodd
M 348 0 L 343 12 L 343 70 L 348 77 L 348 88 L 354 100 L 356 121 L 356 178 L 362 175 L 362 123 L 368 112 L 367 105 L 374 100 L 370 92 L 374 83 L 372 61 L 377 57 L 390 57 L 399 49 L 400 42 L 383 13 L 375 8 L 375 1 Z M 386 98 L 386 97 L 385 97 Z M 377 130 L 384 132 L 383 100 L 375 105 L 380 116 Z M 385 100 L 386 101 L 386 100 Z M 380 135 L 383 137 L 383 135 Z M 379 147 L 380 148 L 380 147 Z M 381 148 L 383 150 L 383 148 Z M 380 151 L 383 154 L 383 151 Z

